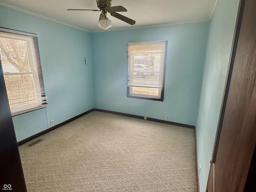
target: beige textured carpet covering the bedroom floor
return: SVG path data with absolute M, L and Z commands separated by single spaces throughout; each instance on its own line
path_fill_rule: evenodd
M 28 192 L 197 191 L 193 129 L 91 112 L 39 138 L 19 147 Z

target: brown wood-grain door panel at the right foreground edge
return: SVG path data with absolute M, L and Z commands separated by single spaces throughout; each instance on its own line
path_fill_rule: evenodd
M 215 162 L 216 192 L 243 192 L 256 144 L 256 1 L 246 0 Z

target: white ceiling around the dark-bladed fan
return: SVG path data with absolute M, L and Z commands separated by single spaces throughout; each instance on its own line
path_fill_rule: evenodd
M 108 14 L 112 27 L 108 30 L 164 26 L 210 20 L 218 0 L 112 0 L 128 12 L 119 12 L 136 20 L 129 25 Z M 0 0 L 0 4 L 88 32 L 98 28 L 100 12 L 68 11 L 67 9 L 98 9 L 96 0 Z

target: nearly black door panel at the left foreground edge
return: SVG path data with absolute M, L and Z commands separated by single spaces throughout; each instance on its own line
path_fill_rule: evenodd
M 12 115 L 0 63 L 0 190 L 26 192 Z M 5 191 L 5 190 L 3 190 Z

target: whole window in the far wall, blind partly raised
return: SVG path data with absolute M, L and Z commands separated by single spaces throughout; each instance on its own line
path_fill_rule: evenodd
M 127 97 L 164 100 L 167 41 L 127 44 Z

